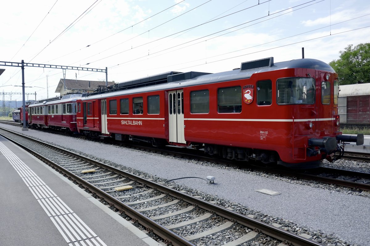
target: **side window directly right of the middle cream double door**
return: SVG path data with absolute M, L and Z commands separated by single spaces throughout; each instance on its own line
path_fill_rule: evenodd
M 174 107 L 174 114 L 175 112 L 176 107 Z M 198 90 L 190 92 L 190 112 L 192 114 L 209 113 L 209 90 Z

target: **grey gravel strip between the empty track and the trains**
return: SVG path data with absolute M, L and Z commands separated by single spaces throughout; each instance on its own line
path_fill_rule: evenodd
M 21 132 L 18 127 L 0 125 Z M 370 245 L 370 222 L 367 218 L 370 212 L 369 192 L 360 193 L 316 182 L 145 153 L 33 129 L 22 133 L 86 153 L 89 157 L 96 156 L 105 163 L 117 163 L 122 169 L 137 175 L 147 173 L 145 176 L 155 181 L 211 175 L 216 177 L 214 184 L 201 179 L 181 179 L 169 185 L 177 190 L 186 190 L 188 194 L 201 195 L 204 200 L 215 201 L 218 205 L 234 208 L 242 214 L 252 214 L 266 223 L 281 224 L 286 231 L 307 233 L 328 246 Z M 326 164 L 370 171 L 369 163 L 339 160 Z M 281 194 L 270 196 L 255 191 L 261 188 Z

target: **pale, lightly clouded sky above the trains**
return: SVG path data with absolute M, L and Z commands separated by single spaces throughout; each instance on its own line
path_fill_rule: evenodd
M 20 67 L 4 62 L 108 71 L 124 82 L 168 71 L 217 73 L 274 57 L 326 63 L 369 42 L 368 0 L 18 0 L 0 8 L 0 93 L 21 101 Z M 105 73 L 26 66 L 26 100 L 58 96 L 60 79 Z

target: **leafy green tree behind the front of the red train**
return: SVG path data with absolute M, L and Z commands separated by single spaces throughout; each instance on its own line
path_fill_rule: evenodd
M 339 59 L 329 63 L 338 74 L 339 84 L 370 82 L 370 43 L 348 45 L 339 53 Z

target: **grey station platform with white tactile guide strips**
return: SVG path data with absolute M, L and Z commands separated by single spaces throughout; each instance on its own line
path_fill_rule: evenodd
M 162 245 L 2 136 L 0 174 L 0 245 Z

